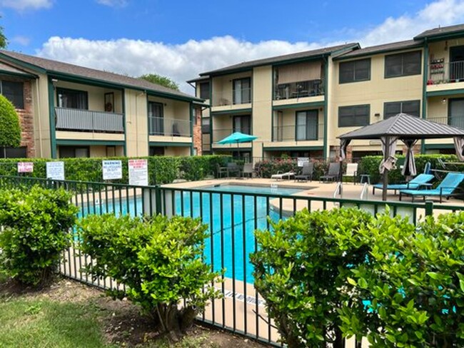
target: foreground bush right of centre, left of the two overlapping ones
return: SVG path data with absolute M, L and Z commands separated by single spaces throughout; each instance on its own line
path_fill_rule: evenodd
M 343 289 L 350 269 L 365 262 L 369 248 L 358 236 L 372 219 L 354 208 L 303 210 L 271 222 L 273 232 L 256 232 L 255 286 L 288 347 L 343 347 L 337 310 L 349 302 L 362 313 L 362 300 Z

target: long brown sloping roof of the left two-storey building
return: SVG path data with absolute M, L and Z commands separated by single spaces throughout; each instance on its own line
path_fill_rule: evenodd
M 0 51 L 1 55 L 11 57 L 29 63 L 38 68 L 46 70 L 47 73 L 64 73 L 66 75 L 78 76 L 81 78 L 89 78 L 94 81 L 104 81 L 107 83 L 115 83 L 117 85 L 128 86 L 136 89 L 142 89 L 146 91 L 153 91 L 158 93 L 166 93 L 172 96 L 178 96 L 181 98 L 188 98 L 192 100 L 200 100 L 194 96 L 186 93 L 175 91 L 171 88 L 160 86 L 156 83 L 151 83 L 141 78 L 133 78 L 130 76 L 119 75 L 118 73 L 110 73 L 108 71 L 101 71 L 92 68 L 84 68 L 84 66 L 76 66 L 74 64 L 63 63 L 61 61 L 52 61 L 51 59 L 40 58 L 36 56 L 29 56 L 23 53 L 11 52 L 11 51 Z

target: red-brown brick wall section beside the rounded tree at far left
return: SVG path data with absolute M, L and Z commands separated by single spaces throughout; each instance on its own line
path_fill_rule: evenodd
M 21 146 L 27 146 L 27 157 L 36 155 L 34 145 L 34 111 L 31 81 L 24 81 L 24 109 L 16 109 L 21 124 Z

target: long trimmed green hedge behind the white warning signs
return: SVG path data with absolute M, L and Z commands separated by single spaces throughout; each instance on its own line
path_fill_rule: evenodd
M 150 185 L 172 183 L 177 178 L 186 180 L 201 180 L 208 175 L 216 174 L 217 165 L 225 165 L 229 156 L 208 155 L 193 157 L 154 156 L 141 157 L 148 160 L 148 180 Z M 126 157 L 112 158 L 61 158 L 64 162 L 66 180 L 103 181 L 101 169 L 102 160 L 121 160 L 123 178 L 112 180 L 114 183 L 128 183 L 128 168 Z M 7 158 L 0 160 L 0 175 L 18 175 L 18 162 L 33 162 L 34 172 L 23 175 L 32 178 L 46 178 L 46 163 L 53 161 L 46 158 Z

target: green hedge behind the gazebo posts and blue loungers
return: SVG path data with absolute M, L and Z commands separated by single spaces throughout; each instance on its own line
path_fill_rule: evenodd
M 380 183 L 380 173 L 378 172 L 378 166 L 382 160 L 382 156 L 366 156 L 363 157 L 359 165 L 359 174 L 369 174 L 371 183 Z M 391 170 L 388 173 L 388 183 L 403 183 L 405 177 L 401 174 L 400 165 L 404 163 L 405 156 L 399 155 L 396 156 L 397 168 Z M 458 158 L 455 155 L 415 155 L 415 168 L 417 173 L 423 173 L 425 163 L 430 162 L 432 169 L 443 169 L 438 163 L 438 159 L 443 160 L 443 162 L 458 162 Z M 445 170 L 456 170 L 462 171 L 464 167 L 462 165 L 447 165 Z

